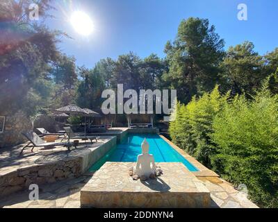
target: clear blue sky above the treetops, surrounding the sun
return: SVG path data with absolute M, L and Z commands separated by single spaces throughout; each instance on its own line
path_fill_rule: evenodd
M 247 21 L 237 19 L 239 3 L 247 5 Z M 226 49 L 245 40 L 261 54 L 278 46 L 277 0 L 58 0 L 56 9 L 47 25 L 73 38 L 63 38 L 60 49 L 89 68 L 129 51 L 142 58 L 151 53 L 164 57 L 165 43 L 174 40 L 179 23 L 188 17 L 209 19 Z M 76 33 L 68 21 L 74 10 L 92 18 L 95 31 L 89 37 Z

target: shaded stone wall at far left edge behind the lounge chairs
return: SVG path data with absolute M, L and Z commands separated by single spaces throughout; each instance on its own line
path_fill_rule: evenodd
M 0 148 L 15 146 L 26 141 L 22 132 L 31 130 L 30 119 L 23 112 L 17 112 L 14 115 L 1 114 L 6 117 L 4 132 L 0 133 Z

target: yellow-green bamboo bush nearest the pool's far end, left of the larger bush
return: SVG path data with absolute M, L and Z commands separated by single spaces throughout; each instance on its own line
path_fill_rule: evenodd
M 188 105 L 178 103 L 177 117 L 170 123 L 173 142 L 207 167 L 211 167 L 211 155 L 215 152 L 209 137 L 213 119 L 225 101 L 216 86 L 213 92 L 199 99 L 194 97 Z

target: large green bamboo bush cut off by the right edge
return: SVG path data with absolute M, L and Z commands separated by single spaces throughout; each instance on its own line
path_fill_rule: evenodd
M 215 169 L 234 184 L 244 183 L 250 198 L 263 207 L 278 207 L 278 96 L 265 82 L 254 100 L 236 96 L 213 121 L 218 147 Z

